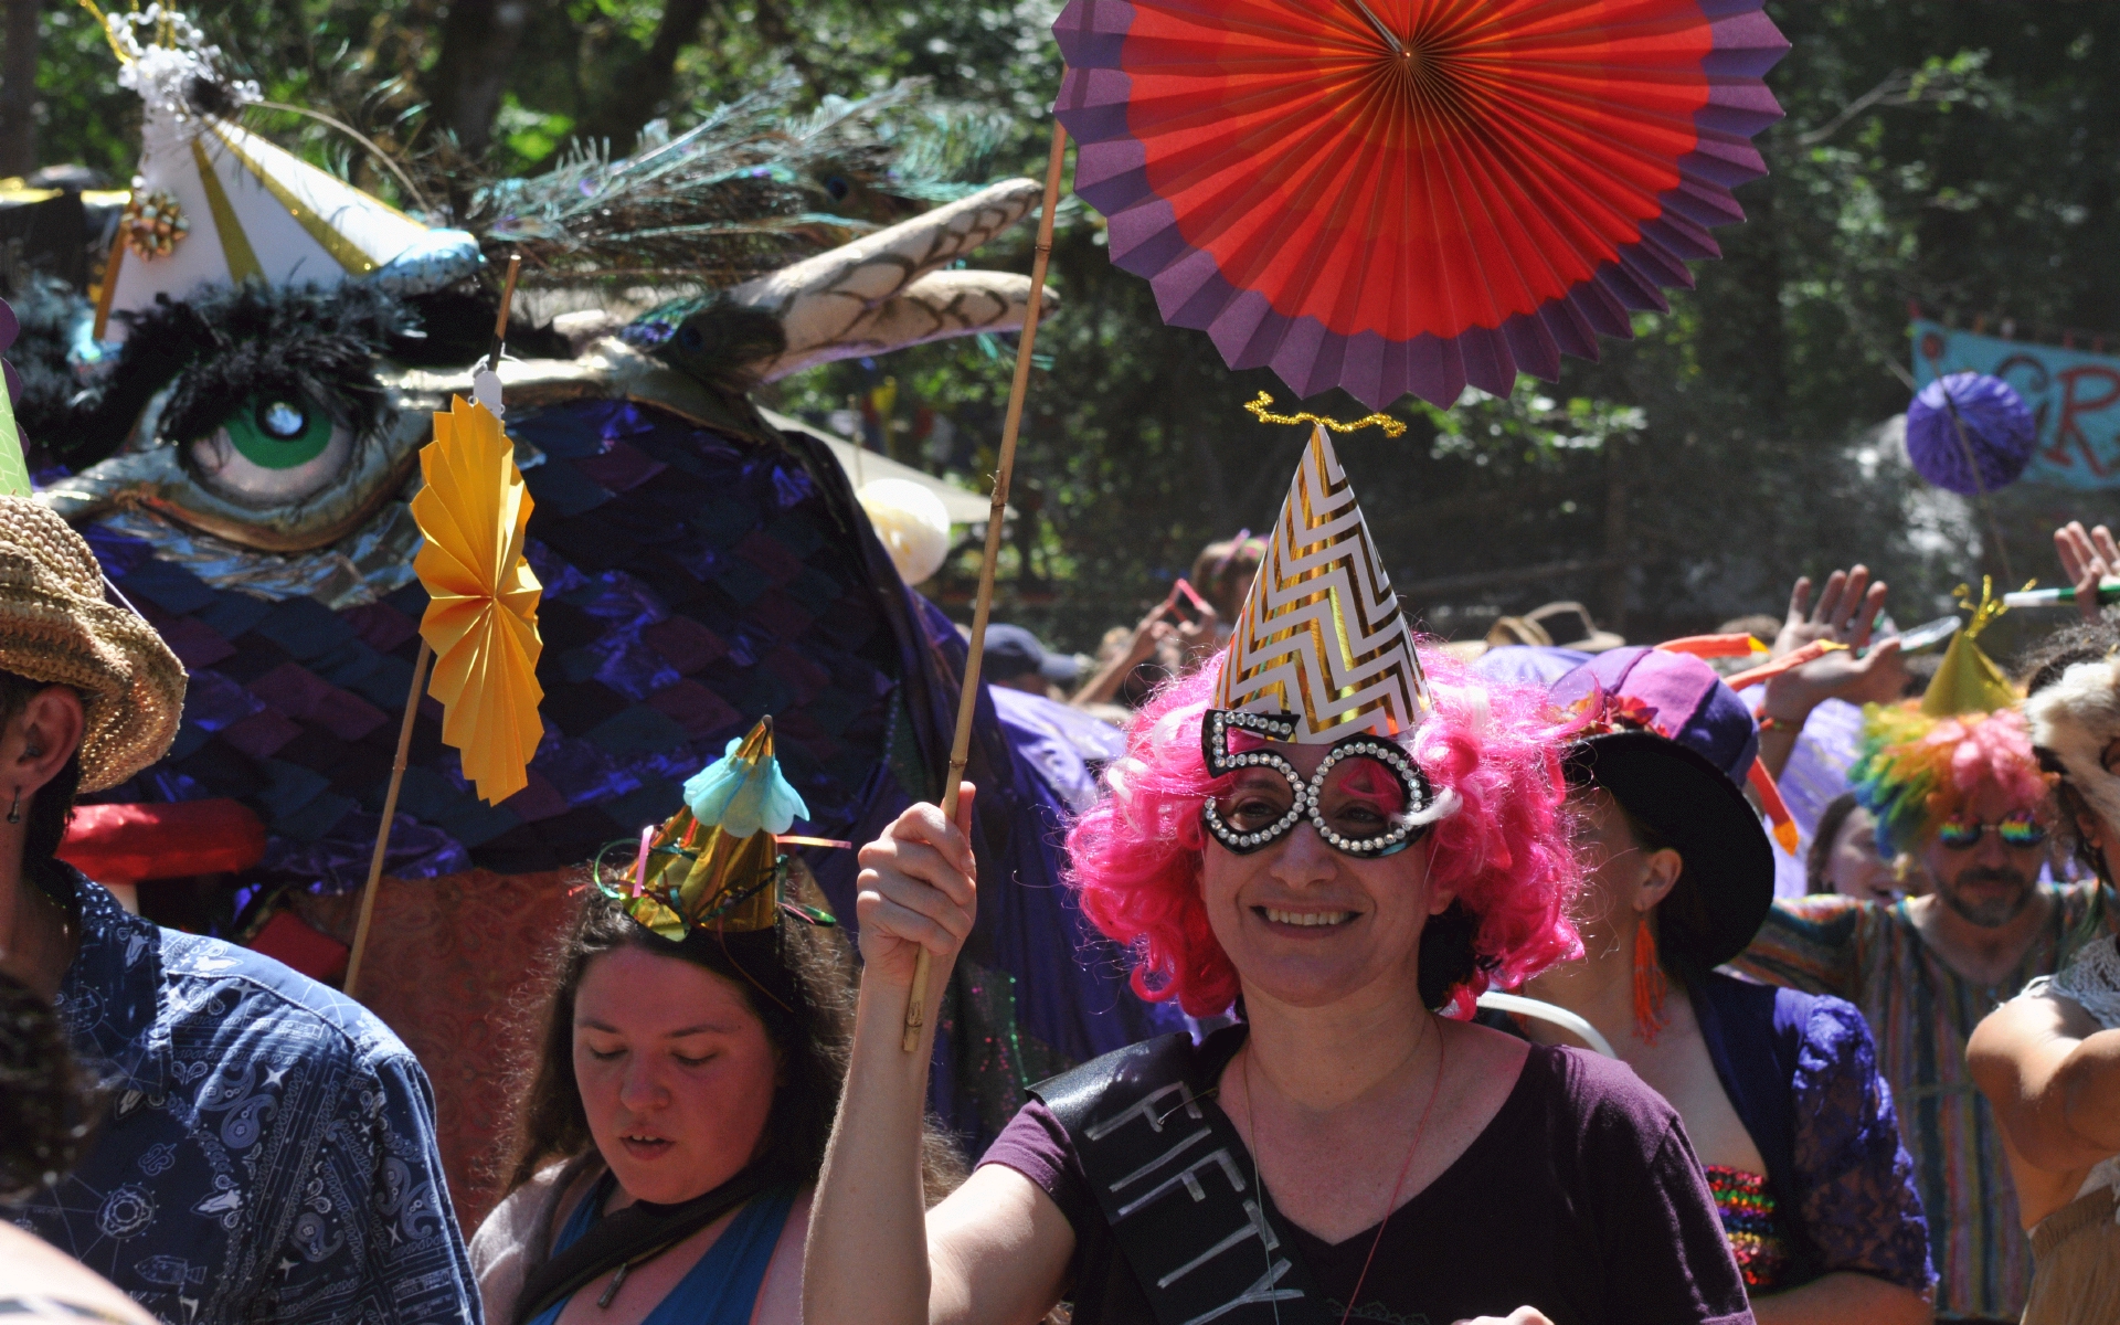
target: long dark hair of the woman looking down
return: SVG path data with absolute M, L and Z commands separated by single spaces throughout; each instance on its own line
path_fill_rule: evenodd
M 791 895 L 808 905 L 823 905 L 808 873 L 799 871 L 797 880 L 791 880 Z M 522 1092 L 509 1191 L 528 1183 L 543 1166 L 585 1155 L 596 1145 L 575 1081 L 575 994 L 589 962 L 621 948 L 691 962 L 742 990 L 765 1026 L 765 1039 L 780 1054 L 782 1073 L 759 1158 L 776 1181 L 814 1183 L 840 1111 L 854 1039 L 854 975 L 846 937 L 837 929 L 782 918 L 757 933 L 721 935 L 697 929 L 683 941 L 670 941 L 587 888 L 575 929 L 551 958 L 551 999 L 528 1090 Z M 962 1162 L 933 1128 L 924 1160 L 929 1200 L 935 1202 L 962 1181 Z

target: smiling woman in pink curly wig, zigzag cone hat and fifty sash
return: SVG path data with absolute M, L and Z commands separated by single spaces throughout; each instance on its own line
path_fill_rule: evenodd
M 1416 653 L 1314 432 L 1227 653 L 1134 717 L 1068 833 L 1136 988 L 1240 1020 L 1032 1085 L 922 1219 L 905 992 L 979 884 L 960 825 L 909 810 L 861 854 L 803 1319 L 1749 1323 L 1677 1113 L 1624 1064 L 1456 1020 L 1579 950 L 1571 729 L 1543 689 Z

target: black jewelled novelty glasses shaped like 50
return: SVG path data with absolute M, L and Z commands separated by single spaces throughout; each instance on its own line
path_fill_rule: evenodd
M 1406 750 L 1380 736 L 1353 736 L 1327 748 L 1306 782 L 1268 742 L 1295 736 L 1289 719 L 1211 708 L 1200 748 L 1211 774 L 1236 784 L 1200 806 L 1217 842 L 1238 854 L 1264 850 L 1306 818 L 1348 856 L 1401 852 L 1456 808 L 1456 795 L 1429 784 Z

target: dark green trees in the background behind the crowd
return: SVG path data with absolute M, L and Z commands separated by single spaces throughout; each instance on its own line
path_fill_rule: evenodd
M 973 174 L 1043 161 L 1054 0 L 524 4 L 488 146 L 509 170 L 541 170 L 577 136 L 623 151 L 647 119 L 681 129 L 782 70 L 816 98 L 929 78 L 1013 125 L 999 167 Z M 1772 174 L 1741 191 L 1749 220 L 1717 231 L 1724 259 L 1696 267 L 1698 288 L 1637 316 L 1637 339 L 1607 341 L 1601 363 L 1569 360 L 1558 384 L 1448 411 L 1401 401 L 1403 437 L 1342 439 L 1393 577 L 1431 623 L 1478 632 L 1495 611 L 1582 598 L 1647 638 L 1774 608 L 1796 572 L 1857 558 L 1900 585 L 1902 619 L 1921 619 L 1997 555 L 1923 545 L 1908 526 L 1916 481 L 1857 460 L 1859 437 L 1906 405 L 1908 301 L 2014 318 L 2020 335 L 2112 331 L 2120 346 L 2120 8 L 1768 8 L 1794 42 L 1770 76 L 1787 119 L 1762 134 Z M 199 17 L 271 100 L 394 151 L 454 151 L 424 110 L 466 59 L 443 40 L 441 0 L 212 0 Z M 123 178 L 136 110 L 100 36 L 53 4 L 45 42 L 42 159 Z M 392 195 L 335 131 L 254 114 Z M 1026 269 L 1028 257 L 1018 231 L 982 261 Z M 1060 216 L 1054 286 L 1064 310 L 1039 339 L 1003 613 L 1085 649 L 1160 600 L 1202 543 L 1266 528 L 1302 435 L 1242 413 L 1259 390 L 1291 403 L 1270 373 L 1227 371 L 1202 333 L 1166 329 L 1079 206 Z M 823 418 L 888 375 L 907 426 L 893 447 L 977 481 L 1009 369 L 1009 339 L 986 337 L 829 365 L 776 399 Z M 1363 413 L 1338 392 L 1304 405 Z M 2103 515 L 2097 496 L 2006 494 L 2020 579 L 2052 575 L 2046 530 L 2073 513 Z M 962 596 L 973 568 L 967 551 L 937 591 Z

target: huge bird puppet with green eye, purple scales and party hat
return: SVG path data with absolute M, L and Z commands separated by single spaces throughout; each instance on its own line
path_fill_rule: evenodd
M 509 335 L 507 430 L 545 587 L 528 787 L 483 803 L 439 706 L 413 727 L 360 988 L 426 1062 L 477 1219 L 509 1121 L 502 1032 L 585 861 L 668 818 L 685 778 L 763 714 L 803 833 L 863 842 L 937 795 L 960 638 L 903 585 L 825 445 L 746 390 L 1013 329 L 1028 280 L 962 259 L 1039 189 L 965 189 L 863 227 L 831 212 L 827 174 L 854 157 L 888 184 L 861 110 L 774 119 L 767 98 L 623 161 L 490 182 L 456 214 L 471 229 L 430 227 L 244 127 L 254 93 L 180 17 L 110 30 L 146 104 L 140 178 L 100 303 L 68 312 L 47 293 L 15 354 L 25 426 L 70 471 L 42 475 L 40 500 L 191 670 L 176 746 L 83 816 L 78 859 L 216 871 L 187 884 L 195 922 L 326 977 L 350 937 L 426 606 L 416 454 L 492 348 L 492 259 L 528 257 L 530 284 L 691 282 L 638 316 L 577 295 L 577 312 Z M 1039 740 L 982 697 L 969 776 L 988 888 L 935 1062 L 969 1141 L 1026 1081 L 1160 1022 L 1052 886 L 1062 801 Z M 263 827 L 263 854 L 227 859 L 231 812 Z M 852 852 L 806 854 L 850 918 Z

